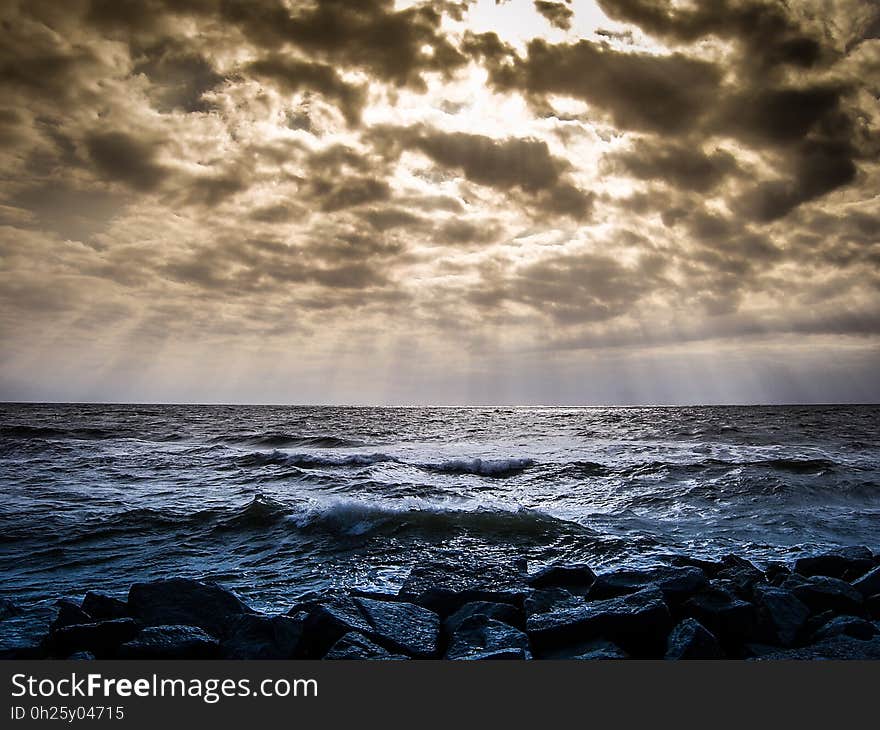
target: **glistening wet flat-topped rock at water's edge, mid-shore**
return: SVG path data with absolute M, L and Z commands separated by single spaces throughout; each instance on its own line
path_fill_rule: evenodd
M 413 568 L 398 595 L 445 617 L 472 601 L 522 606 L 525 580 L 519 565 L 432 563 Z

